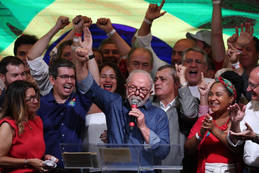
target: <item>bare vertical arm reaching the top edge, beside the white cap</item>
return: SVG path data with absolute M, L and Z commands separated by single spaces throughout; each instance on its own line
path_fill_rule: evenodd
M 212 0 L 213 2 L 214 0 Z M 211 48 L 212 58 L 216 62 L 222 62 L 225 58 L 225 45 L 223 41 L 223 27 L 221 6 L 213 4 L 212 19 L 211 19 Z

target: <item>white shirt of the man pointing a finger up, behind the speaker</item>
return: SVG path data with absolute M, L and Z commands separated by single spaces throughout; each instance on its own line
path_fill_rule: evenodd
M 168 63 L 159 59 L 158 56 L 155 54 L 154 50 L 152 49 L 152 47 L 151 47 L 151 40 L 152 40 L 151 32 L 146 36 L 138 36 L 138 31 L 139 30 L 137 30 L 136 34 L 134 35 L 136 37 L 135 46 L 145 47 L 152 52 L 154 61 L 153 61 L 153 68 L 152 68 L 150 74 L 151 74 L 152 78 L 154 79 L 158 67 L 161 67 L 162 65 L 168 65 Z

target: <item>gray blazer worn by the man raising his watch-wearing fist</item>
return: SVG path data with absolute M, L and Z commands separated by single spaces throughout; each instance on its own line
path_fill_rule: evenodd
M 152 105 L 160 108 L 159 100 L 155 95 L 151 95 L 149 98 Z M 196 172 L 193 166 L 190 166 L 193 163 L 190 160 L 190 156 L 184 155 L 183 146 L 190 133 L 190 129 L 198 119 L 198 109 L 199 99 L 192 96 L 189 87 L 178 89 L 178 96 L 175 98 L 173 105 L 166 111 L 166 114 L 169 120 L 170 144 L 180 144 L 181 154 L 176 155 L 170 152 L 167 158 L 162 161 L 162 164 L 168 165 L 169 163 L 173 163 L 173 165 L 180 165 L 183 163 L 184 172 Z M 162 173 L 167 172 L 179 173 L 180 170 L 162 170 Z

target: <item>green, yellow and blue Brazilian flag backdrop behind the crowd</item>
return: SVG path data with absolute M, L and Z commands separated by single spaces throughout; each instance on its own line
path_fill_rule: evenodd
M 131 37 L 143 21 L 149 3 L 161 3 L 155 0 L 2 0 L 0 2 L 0 59 L 13 55 L 14 41 L 21 34 L 32 34 L 38 38 L 46 34 L 54 25 L 58 16 L 76 15 L 91 17 L 93 25 L 90 31 L 94 46 L 98 48 L 106 34 L 95 23 L 98 18 L 110 18 L 117 32 L 131 45 Z M 259 36 L 259 0 L 221 0 L 223 15 L 223 37 L 227 40 L 235 26 L 250 22 L 254 26 L 254 35 Z M 161 59 L 170 62 L 174 43 L 185 38 L 187 32 L 196 33 L 200 29 L 211 28 L 211 0 L 166 0 L 162 11 L 167 13 L 152 24 L 152 46 Z M 51 40 L 48 51 L 72 24 L 60 31 Z M 240 29 L 239 29 L 240 31 Z M 225 44 L 226 45 L 226 44 Z M 226 46 L 227 47 L 227 46 Z M 48 62 L 46 56 L 45 61 Z

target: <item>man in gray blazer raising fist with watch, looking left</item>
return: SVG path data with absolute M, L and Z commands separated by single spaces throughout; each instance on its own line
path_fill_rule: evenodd
M 181 172 L 196 172 L 190 156 L 184 154 L 184 143 L 190 129 L 198 119 L 199 100 L 193 97 L 185 79 L 187 67 L 183 65 L 163 65 L 158 68 L 155 76 L 155 95 L 150 96 L 152 105 L 162 108 L 169 120 L 170 144 L 180 144 L 181 155 L 171 152 L 163 165 L 180 165 Z M 172 148 L 171 148 L 172 150 Z M 164 169 L 164 172 L 177 172 L 180 170 Z

